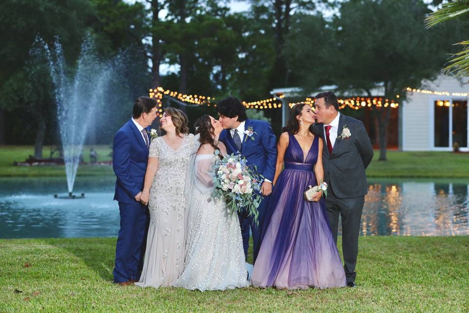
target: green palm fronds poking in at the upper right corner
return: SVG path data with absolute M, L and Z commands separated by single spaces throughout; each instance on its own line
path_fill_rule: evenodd
M 454 0 L 443 4 L 443 6 L 426 17 L 428 27 L 438 23 L 461 18 L 469 14 L 468 0 Z M 469 77 L 469 40 L 462 41 L 456 45 L 462 45 L 462 51 L 454 54 L 449 65 L 444 70 L 457 77 Z

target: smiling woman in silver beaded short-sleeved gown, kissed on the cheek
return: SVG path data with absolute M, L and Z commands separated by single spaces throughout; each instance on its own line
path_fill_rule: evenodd
M 184 184 L 194 135 L 184 112 L 166 108 L 165 135 L 153 139 L 140 201 L 149 204 L 150 223 L 141 287 L 171 286 L 184 268 Z

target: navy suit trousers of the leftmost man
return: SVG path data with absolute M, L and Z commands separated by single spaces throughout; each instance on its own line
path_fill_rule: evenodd
M 141 203 L 119 202 L 121 229 L 116 244 L 114 282 L 139 280 L 147 246 L 148 207 Z

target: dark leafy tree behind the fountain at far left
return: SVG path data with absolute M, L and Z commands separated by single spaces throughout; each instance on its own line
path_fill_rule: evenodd
M 75 58 L 81 44 L 77 39 L 83 37 L 91 14 L 89 3 L 81 0 L 5 0 L 1 4 L 0 25 L 8 31 L 0 33 L 0 42 L 5 43 L 0 49 L 0 106 L 21 112 L 36 124 L 36 157 L 42 156 L 48 115 L 55 106 L 53 86 L 45 74 L 47 62 L 30 56 L 30 48 L 37 36 L 49 44 L 58 36 L 67 47 L 65 56 Z

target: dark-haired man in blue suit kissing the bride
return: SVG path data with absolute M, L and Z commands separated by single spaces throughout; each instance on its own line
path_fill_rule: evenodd
M 251 228 L 253 234 L 254 262 L 256 262 L 263 237 L 261 234 L 262 218 L 265 213 L 269 195 L 272 193 L 272 181 L 274 180 L 277 162 L 275 134 L 269 123 L 248 119 L 246 108 L 234 97 L 221 100 L 217 103 L 216 108 L 220 117 L 219 121 L 224 128 L 220 134 L 219 140 L 225 144 L 228 153 L 241 153 L 241 155 L 246 157 L 247 164 L 256 165 L 257 173 L 265 178 L 261 188 L 264 199 L 257 208 L 259 211 L 259 225 L 254 223 L 253 216 L 247 216 L 246 212 L 239 213 L 244 255 L 247 258 L 249 228 Z

